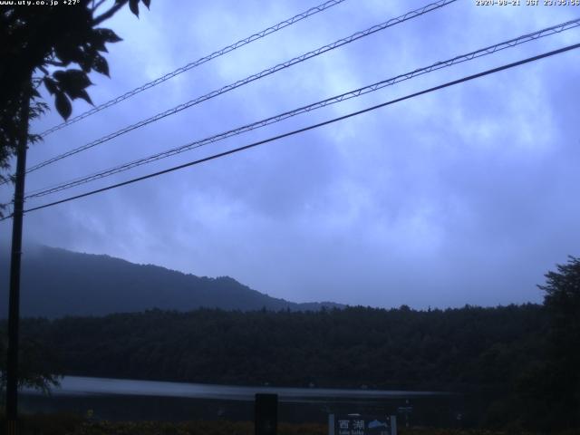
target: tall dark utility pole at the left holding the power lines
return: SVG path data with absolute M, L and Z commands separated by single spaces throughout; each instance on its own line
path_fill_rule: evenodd
M 24 178 L 32 73 L 26 76 L 20 106 L 20 137 L 16 144 L 16 175 L 10 255 L 10 295 L 8 301 L 8 361 L 6 364 L 6 420 L 8 435 L 18 433 L 18 326 L 20 323 L 20 260 L 24 217 Z

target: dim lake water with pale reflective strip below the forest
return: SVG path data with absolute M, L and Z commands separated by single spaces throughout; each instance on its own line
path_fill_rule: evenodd
M 325 422 L 329 413 L 396 414 L 412 406 L 415 422 L 447 423 L 465 401 L 436 391 L 278 388 L 65 376 L 46 397 L 22 391 L 25 412 L 72 411 L 103 420 L 253 420 L 256 393 L 276 393 L 279 419 Z M 400 416 L 404 419 L 404 416 Z

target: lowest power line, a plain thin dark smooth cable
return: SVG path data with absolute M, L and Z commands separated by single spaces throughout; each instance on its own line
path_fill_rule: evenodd
M 148 174 L 148 175 L 145 175 L 145 176 L 142 176 L 142 177 L 138 177 L 138 178 L 135 178 L 135 179 L 129 179 L 127 181 L 123 181 L 121 183 L 113 184 L 111 186 L 107 186 L 107 187 L 102 188 L 102 189 L 95 189 L 95 190 L 92 190 L 90 192 L 82 193 L 80 195 L 75 195 L 73 197 L 60 199 L 58 201 L 53 201 L 53 202 L 48 203 L 48 204 L 43 204 L 42 206 L 38 206 L 38 207 L 34 207 L 34 208 L 27 208 L 26 210 L 24 210 L 24 212 L 27 213 L 27 212 L 30 212 L 30 211 L 40 210 L 42 208 L 53 207 L 53 206 L 56 206 L 58 204 L 63 204 L 64 202 L 72 201 L 74 199 L 89 197 L 89 196 L 95 195 L 97 193 L 104 192 L 106 190 L 117 189 L 117 188 L 120 188 L 122 186 L 126 186 L 128 184 L 132 184 L 132 183 L 136 183 L 138 181 L 142 181 L 144 179 L 151 179 L 151 178 L 154 178 L 154 177 L 158 177 L 160 175 L 163 175 L 163 174 L 167 174 L 169 172 L 173 172 L 175 170 L 184 169 L 184 168 L 188 168 L 190 166 L 198 165 L 198 164 L 203 163 L 205 161 L 216 160 L 218 158 L 225 157 L 225 156 L 227 156 L 229 154 L 234 154 L 234 153 L 237 153 L 237 152 L 243 151 L 243 150 L 249 150 L 250 148 L 257 147 L 258 145 L 263 145 L 263 144 L 266 144 L 268 142 L 273 142 L 275 140 L 280 140 L 280 139 L 287 138 L 289 136 L 294 136 L 295 134 L 302 133 L 304 131 L 314 130 L 314 129 L 317 129 L 319 127 L 323 127 L 324 125 L 332 124 L 332 123 L 337 122 L 337 121 L 343 121 L 343 120 L 346 120 L 348 118 L 352 118 L 353 116 L 357 116 L 357 115 L 361 115 L 362 113 L 366 113 L 368 111 L 375 111 L 377 109 L 380 109 L 382 107 L 385 107 L 385 106 L 394 104 L 396 102 L 402 102 L 402 101 L 405 101 L 405 100 L 410 100 L 411 98 L 415 98 L 415 97 L 418 97 L 420 95 L 424 95 L 426 93 L 439 91 L 441 89 L 448 88 L 449 86 L 454 86 L 454 85 L 459 84 L 459 83 L 462 83 L 462 82 L 469 82 L 469 81 L 474 80 L 474 79 L 477 79 L 479 77 L 483 77 L 483 76 L 486 76 L 486 75 L 489 75 L 489 74 L 493 74 L 493 73 L 498 73 L 500 71 L 504 71 L 504 70 L 507 70 L 507 69 L 510 69 L 510 68 L 514 68 L 516 66 L 523 65 L 525 63 L 531 63 L 531 62 L 537 61 L 539 59 L 544 59 L 546 57 L 550 57 L 550 56 L 553 56 L 553 55 L 556 55 L 556 54 L 559 54 L 559 53 L 565 53 L 565 52 L 568 52 L 568 51 L 571 51 L 571 50 L 575 50 L 576 48 L 580 48 L 580 43 L 575 43 L 573 45 L 568 45 L 568 46 L 566 46 L 564 48 L 560 48 L 560 49 L 557 49 L 557 50 L 553 50 L 551 52 L 542 53 L 542 54 L 538 54 L 536 56 L 528 57 L 527 59 L 524 59 L 524 60 L 521 60 L 521 61 L 517 61 L 517 62 L 514 62 L 514 63 L 507 63 L 505 65 L 498 66 L 497 68 L 492 68 L 492 69 L 489 69 L 487 71 L 484 71 L 482 73 L 472 74 L 472 75 L 463 77 L 461 79 L 454 80 L 452 82 L 446 82 L 446 83 L 440 84 L 439 86 L 435 86 L 435 87 L 432 87 L 432 88 L 429 88 L 429 89 L 426 89 L 426 90 L 423 90 L 423 91 L 420 91 L 420 92 L 411 93 L 409 95 L 406 95 L 404 97 L 391 100 L 389 102 L 383 102 L 381 104 L 377 104 L 375 106 L 372 106 L 372 107 L 368 107 L 366 109 L 363 109 L 362 111 L 353 111 L 352 113 L 349 113 L 349 114 L 346 114 L 346 115 L 343 115 L 343 116 L 340 116 L 340 117 L 337 117 L 337 118 L 333 118 L 332 120 L 319 122 L 317 124 L 313 124 L 313 125 L 310 125 L 308 127 L 304 127 L 302 129 L 298 129 L 298 130 L 295 130 L 295 131 L 289 131 L 289 132 L 286 132 L 284 134 L 280 134 L 280 135 L 277 135 L 277 136 L 268 138 L 266 140 L 259 140 L 259 141 L 250 143 L 249 145 L 245 145 L 243 147 L 239 147 L 239 148 L 236 148 L 236 149 L 233 149 L 233 150 L 227 150 L 227 151 L 224 151 L 224 152 L 220 152 L 218 154 L 214 154 L 212 156 L 209 156 L 209 157 L 206 157 L 206 158 L 203 158 L 203 159 L 189 161 L 188 163 L 184 163 L 184 164 L 179 165 L 179 166 L 174 166 L 174 167 L 169 168 L 169 169 L 163 169 L 163 170 L 160 170 L 158 172 L 153 172 L 151 174 Z M 11 218 L 11 216 L 2 218 L 0 220 L 5 220 L 7 218 Z

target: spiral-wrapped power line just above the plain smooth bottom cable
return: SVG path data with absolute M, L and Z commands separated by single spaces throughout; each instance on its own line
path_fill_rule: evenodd
M 202 140 L 195 140 L 195 141 L 189 142 L 186 145 L 182 145 L 180 147 L 173 148 L 171 150 L 166 150 L 166 151 L 163 151 L 163 152 L 160 152 L 157 154 L 153 154 L 149 157 L 145 157 L 145 158 L 142 158 L 140 160 L 133 160 L 131 162 L 124 163 L 122 165 L 119 165 L 119 166 L 116 166 L 116 167 L 113 167 L 110 169 L 105 169 L 105 170 L 102 170 L 100 172 L 96 172 L 96 173 L 93 173 L 91 175 L 88 175 L 88 176 L 85 176 L 82 178 L 73 179 L 73 180 L 70 180 L 70 181 L 67 181 L 64 183 L 60 183 L 60 184 L 53 186 L 51 188 L 37 189 L 33 192 L 30 192 L 25 198 L 39 198 L 39 197 L 43 197 L 43 196 L 46 196 L 46 195 L 49 195 L 49 194 L 52 194 L 55 192 L 59 192 L 59 191 L 65 190 L 65 189 L 72 189 L 76 186 L 80 186 L 82 184 L 91 182 L 91 181 L 96 180 L 96 179 L 102 179 L 105 177 L 109 177 L 113 174 L 123 172 L 123 171 L 129 170 L 129 169 L 137 168 L 139 166 L 148 164 L 148 163 L 156 161 L 156 160 L 165 159 L 165 158 L 177 155 L 181 152 L 200 148 L 204 145 L 208 145 L 209 143 L 215 143 L 215 142 L 218 142 L 219 140 L 225 140 L 227 138 L 230 138 L 232 136 L 237 136 L 238 134 L 242 134 L 242 133 L 247 132 L 247 131 L 253 131 L 253 130 L 256 130 L 258 128 L 262 128 L 262 127 L 265 127 L 267 125 L 273 124 L 275 122 L 283 121 L 287 118 L 291 118 L 291 117 L 296 116 L 296 115 L 301 114 L 301 113 L 314 111 L 314 110 L 321 109 L 325 106 L 328 106 L 328 105 L 331 105 L 331 104 L 334 104 L 337 102 L 343 102 L 343 101 L 349 100 L 351 98 L 359 97 L 359 96 L 366 94 L 366 93 L 375 92 L 375 91 L 378 91 L 384 87 L 391 86 L 395 83 L 403 82 L 405 80 L 410 80 L 411 78 L 416 77 L 418 75 L 430 73 L 432 71 L 437 71 L 437 70 L 440 70 L 442 68 L 447 68 L 447 67 L 454 65 L 454 64 L 457 64 L 457 63 L 467 62 L 467 61 L 476 59 L 478 57 L 486 56 L 488 54 L 497 53 L 498 51 L 505 50 L 505 49 L 511 48 L 511 47 L 515 47 L 518 44 L 527 43 L 530 41 L 535 41 L 536 39 L 539 39 L 539 38 L 542 38 L 542 37 L 545 37 L 545 36 L 548 36 L 551 34 L 558 34 L 560 32 L 564 32 L 565 30 L 569 30 L 569 29 L 572 29 L 572 28 L 575 28 L 578 26 L 580 26 L 580 18 L 576 19 L 576 20 L 568 21 L 568 22 L 565 22 L 562 24 L 556 24 L 556 25 L 553 25 L 551 27 L 547 27 L 546 29 L 536 31 L 536 32 L 531 33 L 531 34 L 524 34 L 524 35 L 518 36 L 517 38 L 510 39 L 510 40 L 503 42 L 503 43 L 497 43 L 497 44 L 490 45 L 490 46 L 485 47 L 485 48 L 481 48 L 481 49 L 474 51 L 474 52 L 455 56 L 455 57 L 453 57 L 449 60 L 446 60 L 446 61 L 433 63 L 429 66 L 413 70 L 413 71 L 411 71 L 411 73 L 400 74 L 400 75 L 397 75 L 397 76 L 392 77 L 390 79 L 386 79 L 386 80 L 383 80 L 381 82 L 375 82 L 375 83 L 364 86 L 362 88 L 358 88 L 358 89 L 350 91 L 350 92 L 344 92 L 340 95 L 336 95 L 336 96 L 333 96 L 331 98 L 327 98 L 327 99 L 320 101 L 320 102 L 314 102 L 312 104 L 308 104 L 306 106 L 297 108 L 293 111 L 285 111 L 284 113 L 277 114 L 275 116 L 266 118 L 266 119 L 261 120 L 261 121 L 252 122 L 252 123 L 244 125 L 242 127 L 238 127 L 237 129 L 221 132 L 221 133 L 218 133 L 216 135 L 210 136 L 210 137 L 202 139 Z

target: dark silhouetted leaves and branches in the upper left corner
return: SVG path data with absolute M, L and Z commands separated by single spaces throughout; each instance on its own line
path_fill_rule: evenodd
M 22 107 L 30 96 L 32 118 L 48 106 L 40 102 L 43 85 L 54 97 L 56 110 L 67 119 L 71 101 L 91 101 L 86 89 L 91 72 L 109 75 L 102 55 L 106 43 L 121 41 L 111 29 L 99 28 L 124 5 L 139 15 L 139 3 L 150 0 L 115 0 L 100 12 L 103 1 L 79 0 L 75 5 L 0 6 L 0 170 L 8 169 L 9 158 L 23 134 Z M 36 74 L 36 75 L 33 75 Z M 31 77 L 33 78 L 31 82 Z M 30 135 L 29 142 L 40 138 Z M 5 176 L 0 174 L 0 179 Z

